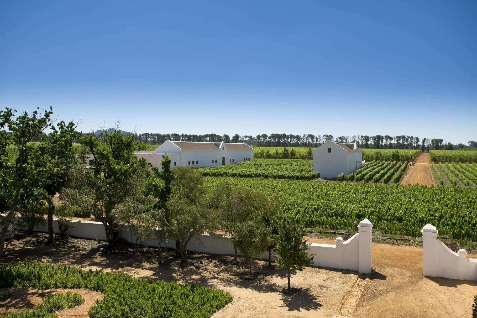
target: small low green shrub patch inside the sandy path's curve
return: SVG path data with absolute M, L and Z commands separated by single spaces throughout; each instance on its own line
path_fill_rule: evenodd
M 56 318 L 55 311 L 73 308 L 83 304 L 84 298 L 78 292 L 49 294 L 33 309 L 23 309 L 12 313 L 0 315 L 1 318 Z

